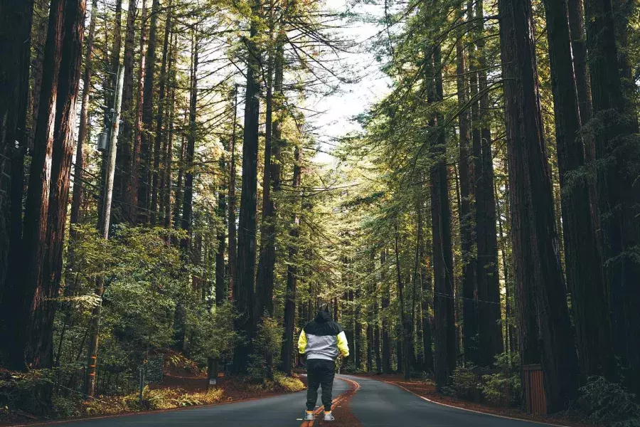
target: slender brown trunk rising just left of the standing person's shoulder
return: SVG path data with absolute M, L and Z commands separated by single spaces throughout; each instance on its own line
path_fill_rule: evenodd
M 299 196 L 299 188 L 302 179 L 302 148 L 294 148 L 294 169 L 292 191 Z M 292 354 L 294 352 L 294 325 L 298 282 L 298 243 L 300 236 L 300 218 L 297 214 L 297 207 L 294 208 L 292 224 L 289 229 L 289 263 L 287 265 L 287 292 L 284 295 L 284 337 L 282 337 L 282 371 L 290 375 L 292 368 Z

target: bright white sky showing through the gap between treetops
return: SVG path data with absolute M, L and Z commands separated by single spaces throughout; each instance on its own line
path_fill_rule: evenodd
M 326 8 L 334 11 L 344 11 L 346 0 L 326 0 Z M 380 6 L 358 5 L 356 12 L 381 14 Z M 309 100 L 309 109 L 322 112 L 308 117 L 310 124 L 317 129 L 318 139 L 323 152 L 318 152 L 315 161 L 320 164 L 333 164 L 334 157 L 326 154 L 331 151 L 335 139 L 350 132 L 361 130 L 353 120 L 357 115 L 366 112 L 369 107 L 390 93 L 390 80 L 380 71 L 380 63 L 372 53 L 366 52 L 367 42 L 380 32 L 380 26 L 375 23 L 345 23 L 341 28 L 341 35 L 358 42 L 358 53 L 343 54 L 342 63 L 349 70 L 349 75 L 360 77 L 357 83 L 341 85 L 337 93 L 326 97 L 316 97 Z

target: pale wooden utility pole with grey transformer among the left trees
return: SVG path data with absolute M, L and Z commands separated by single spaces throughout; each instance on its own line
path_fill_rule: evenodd
M 120 127 L 120 112 L 122 111 L 122 87 L 124 85 L 124 67 L 118 68 L 117 87 L 115 90 L 115 102 L 113 117 L 111 120 L 110 143 L 107 148 L 107 177 L 105 189 L 102 193 L 102 218 L 100 221 L 100 236 L 109 239 L 109 223 L 111 218 L 111 201 L 113 195 L 113 179 L 115 174 L 116 149 L 118 144 L 118 131 Z M 95 394 L 95 371 L 97 364 L 98 333 L 100 330 L 100 312 L 102 311 L 102 293 L 105 292 L 105 278 L 98 277 L 95 280 L 95 295 L 100 299 L 98 305 L 92 310 L 90 324 L 89 351 L 87 354 L 87 375 L 85 377 L 85 394 Z

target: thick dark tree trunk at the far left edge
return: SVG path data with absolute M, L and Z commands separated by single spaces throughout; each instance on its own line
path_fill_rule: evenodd
M 21 315 L 21 260 L 24 154 L 29 97 L 33 1 L 0 1 L 0 339 L 11 342 Z M 16 147 L 15 142 L 18 142 Z M 6 178 L 11 176 L 9 182 Z M 10 361 L 11 362 L 11 361 Z

